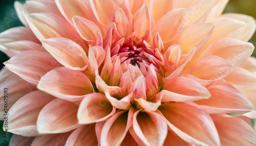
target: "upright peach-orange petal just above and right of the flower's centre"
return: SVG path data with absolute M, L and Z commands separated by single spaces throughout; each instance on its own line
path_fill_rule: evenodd
M 160 10 L 160 9 L 156 9 L 156 10 Z M 164 9 L 161 8 L 161 10 L 164 10 Z M 163 42 L 172 39 L 176 35 L 176 33 L 185 25 L 183 22 L 184 15 L 185 15 L 184 9 L 176 9 L 166 13 L 157 22 L 154 32 L 158 32 L 160 34 Z

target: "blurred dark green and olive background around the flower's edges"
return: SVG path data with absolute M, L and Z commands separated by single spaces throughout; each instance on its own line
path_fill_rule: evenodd
M 25 2 L 25 0 L 20 0 L 19 2 Z M 15 13 L 13 7 L 14 0 L 0 0 L 0 32 L 3 32 L 9 28 L 23 26 L 19 21 L 17 14 Z M 230 0 L 224 13 L 242 13 L 251 15 L 256 18 L 256 0 Z M 256 34 L 249 40 L 256 46 Z M 256 56 L 256 51 L 254 51 L 253 56 Z M 0 52 L 0 68 L 3 67 L 3 62 L 8 60 L 8 57 Z M 1 127 L 3 127 L 3 121 L 0 121 Z M 2 130 L 2 128 L 1 128 Z M 0 145 L 8 145 L 4 141 L 3 131 L 0 130 Z M 12 134 L 9 134 L 9 138 Z

